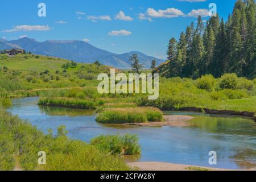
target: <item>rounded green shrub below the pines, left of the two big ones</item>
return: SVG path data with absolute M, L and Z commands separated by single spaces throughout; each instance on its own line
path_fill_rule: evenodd
M 212 75 L 205 75 L 196 80 L 196 87 L 211 92 L 214 89 L 215 83 L 216 80 Z

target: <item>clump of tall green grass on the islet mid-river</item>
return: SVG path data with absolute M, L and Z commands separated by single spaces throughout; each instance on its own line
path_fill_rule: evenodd
M 163 113 L 154 107 L 108 108 L 97 115 L 100 123 L 145 123 L 163 121 Z

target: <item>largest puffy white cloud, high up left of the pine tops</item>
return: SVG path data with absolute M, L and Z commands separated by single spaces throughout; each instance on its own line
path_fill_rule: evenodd
M 185 16 L 185 14 L 181 10 L 173 7 L 166 10 L 148 8 L 147 12 L 145 14 L 140 13 L 138 18 L 141 20 L 146 19 L 151 21 L 152 18 L 174 18 L 179 16 Z

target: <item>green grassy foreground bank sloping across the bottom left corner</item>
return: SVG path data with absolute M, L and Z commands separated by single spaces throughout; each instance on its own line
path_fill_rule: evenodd
M 43 171 L 130 170 L 118 156 L 106 155 L 107 151 L 92 144 L 69 139 L 64 126 L 59 127 L 56 135 L 51 130 L 45 135 L 5 110 L 0 109 L 0 115 L 0 171 L 14 167 Z M 39 151 L 46 152 L 46 166 L 38 164 Z

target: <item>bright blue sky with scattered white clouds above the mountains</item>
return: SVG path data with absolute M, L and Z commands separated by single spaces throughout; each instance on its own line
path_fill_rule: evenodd
M 199 1 L 199 2 L 189 2 Z M 38 4 L 46 4 L 46 17 Z M 216 3 L 224 18 L 236 0 L 23 0 L 1 2 L 0 38 L 85 40 L 114 53 L 140 51 L 166 58 L 168 40 L 179 38 L 197 14 Z M 192 11 L 194 10 L 194 11 Z M 120 12 L 121 11 L 121 12 Z M 189 14 L 190 13 L 190 14 Z M 208 19 L 209 16 L 203 19 Z

